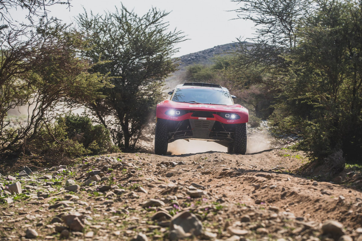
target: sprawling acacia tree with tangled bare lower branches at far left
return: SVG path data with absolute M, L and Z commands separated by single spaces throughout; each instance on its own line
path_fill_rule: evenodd
M 21 40 L 24 33 L 11 29 L 1 42 L 0 152 L 25 150 L 42 129 L 52 135 L 63 103 L 92 102 L 106 85 L 104 75 L 89 73 L 89 61 L 79 58 L 80 33 L 58 20 L 40 21 L 33 30 Z M 28 106 L 28 120 L 11 127 L 7 112 L 20 106 Z

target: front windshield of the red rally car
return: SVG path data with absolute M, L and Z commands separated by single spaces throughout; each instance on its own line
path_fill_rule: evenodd
M 176 89 L 175 91 L 172 97 L 172 101 L 175 102 L 233 105 L 229 92 L 224 90 L 184 88 Z

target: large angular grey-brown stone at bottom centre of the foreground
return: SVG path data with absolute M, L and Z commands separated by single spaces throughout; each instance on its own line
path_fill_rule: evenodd
M 190 235 L 202 234 L 202 223 L 201 221 L 189 211 L 182 211 L 176 214 L 170 223 L 170 240 L 178 240 L 181 238 L 187 238 Z

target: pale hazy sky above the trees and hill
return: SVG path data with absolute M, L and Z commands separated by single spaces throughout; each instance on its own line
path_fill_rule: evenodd
M 254 30 L 253 23 L 236 18 L 234 10 L 239 6 L 230 0 L 72 0 L 70 11 L 64 5 L 49 7 L 49 16 L 55 16 L 71 23 L 74 17 L 83 13 L 83 7 L 93 13 L 112 12 L 114 6 L 123 5 L 138 15 L 145 14 L 151 7 L 171 12 L 165 21 L 169 22 L 170 30 L 176 28 L 188 35 L 185 42 L 177 44 L 180 48 L 175 57 L 198 52 L 214 46 L 235 42 L 236 38 L 251 38 Z M 21 20 L 21 11 L 17 11 Z

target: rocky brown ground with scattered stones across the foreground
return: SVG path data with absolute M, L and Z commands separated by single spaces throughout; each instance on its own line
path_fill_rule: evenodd
M 294 175 L 306 162 L 273 149 L 25 167 L 1 177 L 0 240 L 361 241 L 361 189 Z

